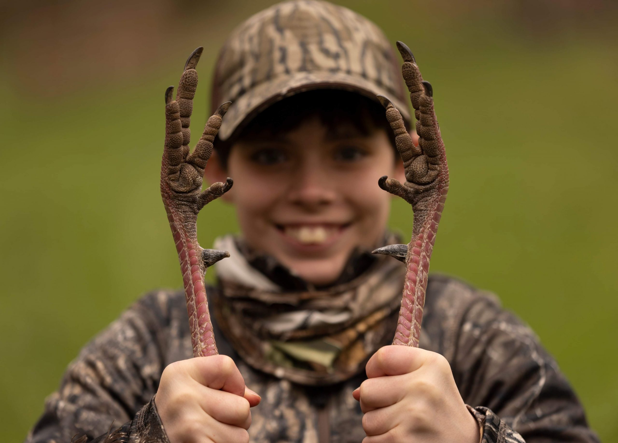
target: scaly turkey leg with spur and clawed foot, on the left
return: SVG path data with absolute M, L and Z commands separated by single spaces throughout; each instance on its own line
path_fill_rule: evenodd
M 189 124 L 197 88 L 195 66 L 202 50 L 195 49 L 187 59 L 176 100 L 172 100 L 173 86 L 165 92 L 165 147 L 161 161 L 161 197 L 180 260 L 195 357 L 218 354 L 208 312 L 204 276 L 209 266 L 229 257 L 226 251 L 200 247 L 197 243 L 197 215 L 208 202 L 229 191 L 233 183 L 231 178 L 227 178 L 227 183 L 213 183 L 205 191 L 201 190 L 204 168 L 213 152 L 213 140 L 230 102 L 219 106 L 208 119 L 204 133 L 193 152 L 189 153 Z

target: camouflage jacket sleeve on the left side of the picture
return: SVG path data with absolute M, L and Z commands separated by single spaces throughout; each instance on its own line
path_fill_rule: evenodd
M 169 349 L 182 348 L 186 321 L 172 311 L 169 294 L 152 293 L 99 333 L 46 398 L 26 443 L 168 443 L 154 396 L 165 366 L 180 359 Z

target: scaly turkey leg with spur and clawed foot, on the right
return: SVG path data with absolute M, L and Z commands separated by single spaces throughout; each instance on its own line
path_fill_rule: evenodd
M 378 99 L 386 108 L 386 118 L 396 135 L 397 150 L 404 160 L 405 168 L 405 183 L 383 176 L 378 184 L 384 191 L 402 197 L 412 205 L 414 212 L 412 239 L 407 246 L 396 244 L 381 247 L 373 252 L 393 256 L 405 263 L 407 272 L 404 293 L 392 344 L 418 348 L 429 262 L 444 209 L 446 192 L 449 189 L 449 168 L 446 164 L 446 152 L 436 113 L 433 110 L 433 88 L 429 82 L 423 81 L 412 51 L 400 41 L 397 41 L 397 49 L 404 59 L 401 71 L 415 110 L 419 140 L 417 147 L 405 130 L 399 111 L 394 108 L 390 100 L 378 95 Z

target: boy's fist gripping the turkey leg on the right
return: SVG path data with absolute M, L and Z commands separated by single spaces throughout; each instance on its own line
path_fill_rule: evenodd
M 384 346 L 368 361 L 360 401 L 363 443 L 478 443 L 476 419 L 459 395 L 446 359 L 408 346 Z

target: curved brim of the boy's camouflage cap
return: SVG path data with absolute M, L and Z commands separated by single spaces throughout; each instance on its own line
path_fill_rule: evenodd
M 236 129 L 245 126 L 253 116 L 279 100 L 303 91 L 330 88 L 358 92 L 376 102 L 378 102 L 376 95 L 384 95 L 391 100 L 404 120 L 410 123 L 410 106 L 397 100 L 394 92 L 379 87 L 369 80 L 342 72 L 295 72 L 290 75 L 280 75 L 257 85 L 233 100 L 221 123 L 219 139 L 227 140 Z

